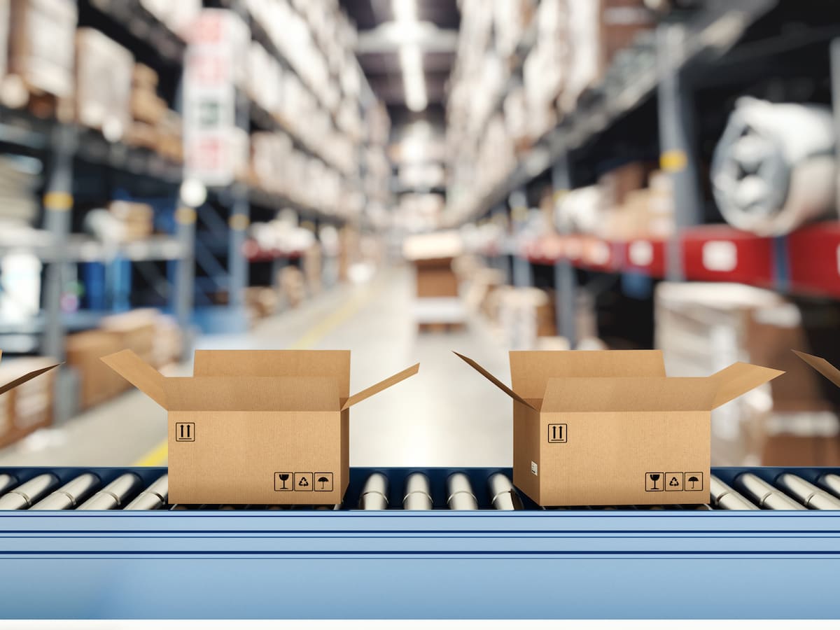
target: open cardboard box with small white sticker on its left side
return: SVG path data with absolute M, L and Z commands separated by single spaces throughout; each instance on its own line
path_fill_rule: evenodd
M 508 387 L 458 356 L 513 399 L 513 483 L 541 506 L 706 503 L 711 410 L 782 374 L 669 378 L 659 350 L 530 351 L 510 353 Z

